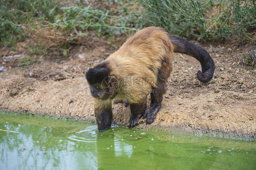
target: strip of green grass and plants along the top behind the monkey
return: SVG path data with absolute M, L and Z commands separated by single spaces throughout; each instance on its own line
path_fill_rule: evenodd
M 100 39 L 160 26 L 170 34 L 198 40 L 253 39 L 256 0 L 1 0 L 0 46 L 42 33 L 67 37 L 61 46 L 91 34 Z M 40 29 L 40 30 L 39 30 Z M 88 34 L 90 33 L 90 34 Z M 56 34 L 60 36 L 60 34 Z M 44 40 L 43 40 L 44 41 Z M 38 44 L 39 46 L 44 46 Z M 67 45 L 66 45 L 67 46 Z M 62 47 L 61 47 L 62 48 Z M 63 49 L 67 50 L 67 49 Z M 68 50 L 67 50 L 68 51 Z

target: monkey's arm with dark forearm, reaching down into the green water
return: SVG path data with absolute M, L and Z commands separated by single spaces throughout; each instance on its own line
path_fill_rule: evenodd
M 98 130 L 105 131 L 111 126 L 113 112 L 111 100 L 94 100 L 94 115 L 96 117 Z

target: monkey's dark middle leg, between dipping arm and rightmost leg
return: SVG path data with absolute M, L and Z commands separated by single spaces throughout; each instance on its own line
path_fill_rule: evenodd
M 129 128 L 138 124 L 138 120 L 143 117 L 147 108 L 147 98 L 142 103 L 130 104 L 131 116 L 129 120 Z

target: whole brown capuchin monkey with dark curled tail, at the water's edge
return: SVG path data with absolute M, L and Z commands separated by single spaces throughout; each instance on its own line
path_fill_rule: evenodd
M 147 125 L 154 122 L 172 71 L 174 52 L 196 58 L 202 68 L 202 72 L 197 72 L 197 78 L 203 83 L 211 80 L 215 64 L 209 53 L 158 27 L 138 31 L 105 61 L 88 68 L 86 79 L 94 97 L 94 115 L 99 131 L 111 126 L 114 98 L 130 105 L 130 128 L 136 126 L 141 117 L 147 118 Z M 148 94 L 151 97 L 149 108 Z

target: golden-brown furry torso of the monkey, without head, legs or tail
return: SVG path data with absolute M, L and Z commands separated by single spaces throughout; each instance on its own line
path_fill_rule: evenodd
M 130 37 L 106 62 L 111 66 L 110 76 L 130 78 L 123 83 L 118 97 L 129 103 L 138 102 L 148 95 L 157 81 L 167 80 L 172 71 L 174 47 L 169 41 L 168 33 L 161 28 L 148 27 Z M 136 79 L 137 78 L 137 79 Z M 136 84 L 142 79 L 144 84 Z

